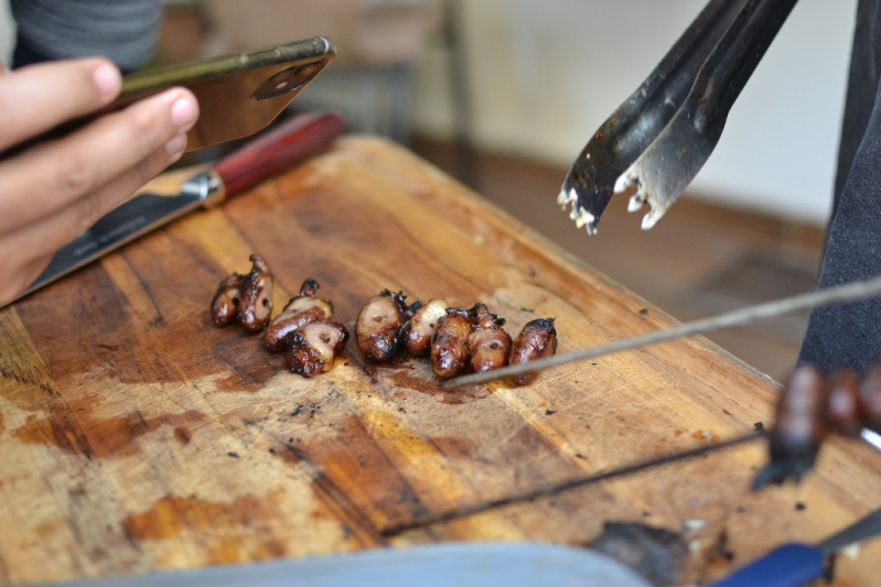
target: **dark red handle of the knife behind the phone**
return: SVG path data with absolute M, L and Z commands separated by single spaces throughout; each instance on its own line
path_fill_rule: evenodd
M 221 160 L 214 171 L 221 176 L 226 197 L 236 196 L 294 163 L 320 153 L 345 132 L 333 113 L 298 115 Z

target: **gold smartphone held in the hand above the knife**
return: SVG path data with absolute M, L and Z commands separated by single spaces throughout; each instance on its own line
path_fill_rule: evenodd
M 336 54 L 316 36 L 205 61 L 128 75 L 119 97 L 101 112 L 117 110 L 173 86 L 198 99 L 198 121 L 187 151 L 248 137 L 269 126 Z M 100 112 L 99 112 L 100 113 Z

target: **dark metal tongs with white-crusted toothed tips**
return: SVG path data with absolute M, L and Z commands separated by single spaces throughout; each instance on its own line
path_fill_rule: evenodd
M 719 142 L 728 112 L 796 0 L 710 0 L 579 154 L 558 197 L 589 235 L 614 194 L 636 188 L 647 230 Z

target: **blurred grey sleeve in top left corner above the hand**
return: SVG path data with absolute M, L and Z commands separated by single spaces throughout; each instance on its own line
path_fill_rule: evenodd
M 103 55 L 121 69 L 155 50 L 160 0 L 10 0 L 19 36 L 52 58 Z

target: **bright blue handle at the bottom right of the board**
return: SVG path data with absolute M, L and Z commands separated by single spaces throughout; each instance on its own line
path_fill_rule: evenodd
M 819 548 L 784 544 L 710 587 L 801 587 L 824 572 Z

